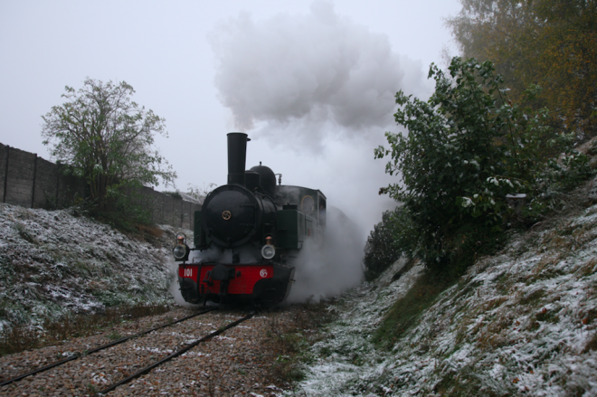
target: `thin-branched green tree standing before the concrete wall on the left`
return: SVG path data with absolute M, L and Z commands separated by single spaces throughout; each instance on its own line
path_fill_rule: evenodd
M 87 180 L 92 201 L 105 206 L 123 184 L 174 184 L 175 172 L 153 147 L 155 134 L 167 137 L 165 120 L 139 108 L 130 85 L 88 78 L 80 90 L 65 90 L 67 101 L 42 117 L 43 144 Z

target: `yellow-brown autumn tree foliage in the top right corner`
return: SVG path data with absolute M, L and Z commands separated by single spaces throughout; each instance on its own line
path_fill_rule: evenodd
M 577 138 L 597 134 L 597 2 L 594 0 L 460 0 L 448 25 L 465 57 L 491 60 L 511 89 L 545 89 L 535 107 Z

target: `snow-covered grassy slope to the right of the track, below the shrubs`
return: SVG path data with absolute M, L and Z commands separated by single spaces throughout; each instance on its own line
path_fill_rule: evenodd
M 597 205 L 511 236 L 448 288 L 391 351 L 372 344 L 422 273 L 398 261 L 346 294 L 294 392 L 324 395 L 597 395 Z

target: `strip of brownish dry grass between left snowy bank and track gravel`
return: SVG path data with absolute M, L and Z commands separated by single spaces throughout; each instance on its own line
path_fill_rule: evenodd
M 38 328 L 18 325 L 6 327 L 0 332 L 0 355 L 46 345 L 60 345 L 71 337 L 89 336 L 102 328 L 139 317 L 166 313 L 170 309 L 171 307 L 164 305 L 109 307 L 101 314 L 67 315 L 59 320 L 48 318 Z

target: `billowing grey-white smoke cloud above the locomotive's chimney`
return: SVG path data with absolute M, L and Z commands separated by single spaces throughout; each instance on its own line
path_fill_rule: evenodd
M 428 90 L 420 62 L 393 52 L 386 35 L 336 14 L 327 1 L 312 3 L 309 14 L 258 22 L 240 14 L 219 24 L 210 41 L 219 63 L 215 86 L 234 127 L 293 137 L 292 145 L 318 150 L 330 133 L 379 133 L 393 125 L 398 90 Z

